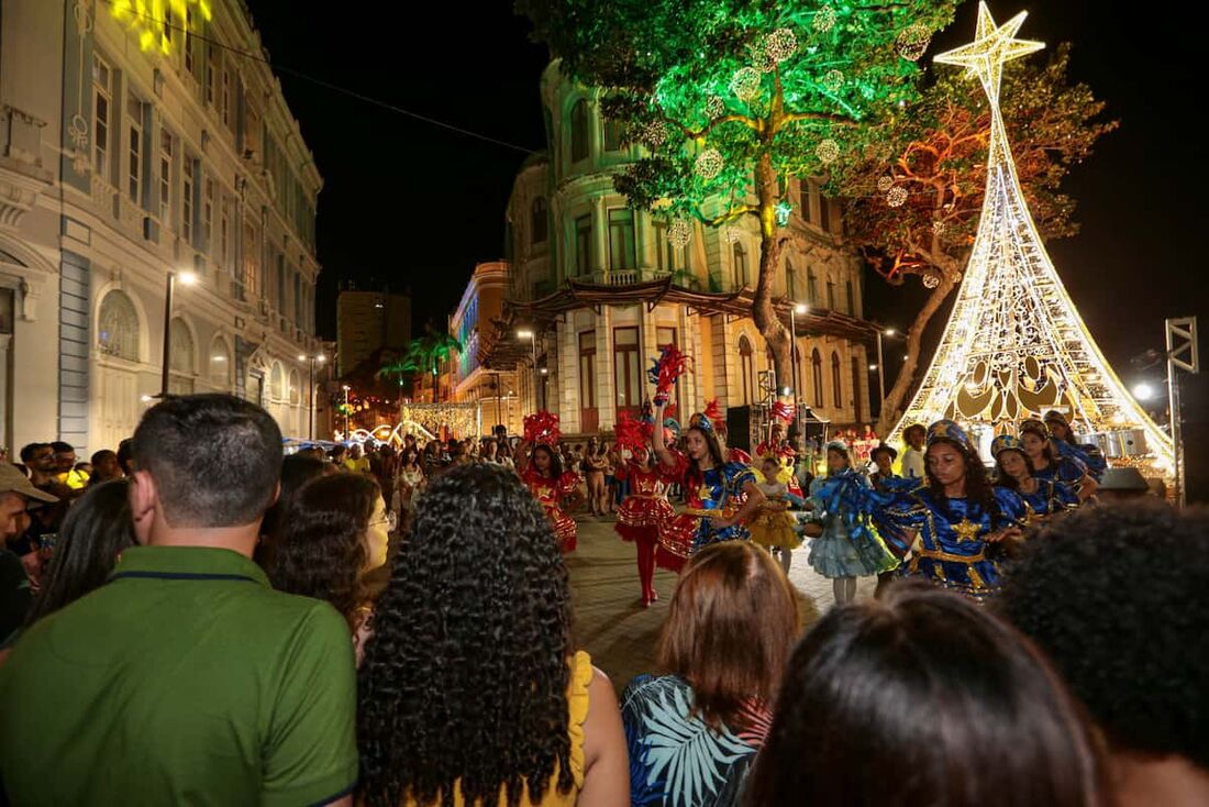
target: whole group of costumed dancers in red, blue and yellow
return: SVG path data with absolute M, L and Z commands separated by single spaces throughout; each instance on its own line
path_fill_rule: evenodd
M 652 370 L 653 409 L 641 420 L 623 416 L 617 427 L 627 455 L 618 474 L 627 479 L 630 495 L 615 529 L 636 547 L 646 606 L 658 599 L 654 570 L 678 571 L 702 547 L 752 540 L 779 555 L 788 572 L 803 537 L 811 540 L 810 565 L 833 581 L 838 603 L 855 598 L 858 577 L 874 575 L 879 586 L 895 576 L 919 576 L 982 599 L 999 587 L 1001 564 L 1024 530 L 1086 502 L 1106 468 L 1103 455 L 1077 444 L 1065 416 L 1053 410 L 997 436 L 991 469 L 951 420 L 904 431 L 901 473 L 893 446 L 879 444 L 870 463 L 862 465 L 849 443 L 833 440 L 826 446 L 826 475 L 803 491 L 785 439 L 792 408 L 774 405 L 774 425 L 754 459 L 725 448 L 716 407 L 693 415 L 681 433 L 665 416 L 678 376 L 667 364 L 676 362 L 682 368 L 684 359 L 665 348 Z M 522 455 L 528 462 L 519 469 L 569 552 L 575 523 L 567 511 L 579 480 L 562 471 L 556 442 L 556 416 L 527 417 Z M 667 497 L 672 485 L 684 491 L 679 512 Z

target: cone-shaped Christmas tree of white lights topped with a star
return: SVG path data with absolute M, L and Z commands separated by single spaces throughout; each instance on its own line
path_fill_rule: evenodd
M 999 90 L 1005 62 L 1045 47 L 1014 39 L 1025 16 L 997 27 L 979 4 L 974 41 L 936 57 L 977 76 L 990 100 L 987 191 L 958 301 L 891 439 L 909 423 L 941 417 L 1002 432 L 1058 409 L 1084 431 L 1141 430 L 1158 467 L 1169 471 L 1170 439 L 1104 359 L 1063 288 L 1020 191 Z

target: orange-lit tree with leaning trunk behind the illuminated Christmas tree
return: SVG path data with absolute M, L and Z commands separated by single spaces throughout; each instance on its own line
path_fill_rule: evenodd
M 1070 83 L 1069 60 L 1070 46 L 1059 45 L 1048 59 L 1010 62 L 1000 93 L 1016 172 L 1046 241 L 1078 231 L 1062 181 L 1117 127 L 1101 117 L 1104 103 L 1091 88 Z M 866 160 L 838 166 L 829 188 L 849 200 L 845 236 L 873 269 L 891 284 L 915 278 L 931 289 L 906 332 L 907 361 L 886 394 L 879 434 L 893 426 L 912 391 L 924 329 L 960 282 L 987 185 L 987 96 L 959 69 L 932 70 L 935 81 L 912 114 L 885 127 Z

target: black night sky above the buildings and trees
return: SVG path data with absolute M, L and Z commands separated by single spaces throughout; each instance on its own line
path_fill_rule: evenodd
M 341 279 L 410 289 L 417 330 L 426 319 L 444 321 L 474 264 L 504 253 L 504 206 L 525 154 L 284 68 L 536 150 L 544 145 L 544 47 L 528 41 L 528 22 L 507 0 L 337 4 L 324 15 L 300 15 L 293 0 L 248 2 L 325 183 L 320 333 L 334 338 Z M 1191 122 L 1203 114 L 1194 60 L 1203 44 L 1193 41 L 1199 29 L 1178 13 L 1113 13 L 1092 0 L 994 0 L 990 7 L 1000 23 L 1029 10 L 1023 39 L 1074 42 L 1072 77 L 1089 83 L 1107 102 L 1107 115 L 1121 120 L 1069 177 L 1081 234 L 1049 250 L 1101 350 L 1132 384 L 1140 374 L 1128 359 L 1163 347 L 1164 317 L 1209 315 L 1197 252 L 1209 225 L 1202 201 L 1209 169 L 1204 133 Z M 970 41 L 976 8 L 966 2 L 929 54 Z M 870 277 L 867 316 L 906 327 L 918 300 L 918 293 Z M 935 318 L 938 327 L 943 321 Z

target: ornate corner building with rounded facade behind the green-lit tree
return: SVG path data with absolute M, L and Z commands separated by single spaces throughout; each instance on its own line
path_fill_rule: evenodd
M 619 411 L 637 411 L 649 394 L 649 357 L 669 342 L 695 359 L 677 391 L 681 413 L 713 398 L 759 407 L 773 362 L 748 316 L 759 271 L 754 221 L 729 232 L 698 225 L 675 246 L 666 220 L 631 211 L 613 188 L 640 146 L 602 116 L 600 92 L 568 82 L 554 63 L 542 100 L 549 148 L 513 186 L 509 316 L 487 364 L 532 368 L 516 333 L 536 333 L 533 377 L 546 384 L 527 390 L 525 405 L 544 404 L 568 433 L 608 431 Z M 787 189 L 792 238 L 774 294 L 796 329 L 797 385 L 777 385 L 796 386 L 821 419 L 855 425 L 869 416 L 866 350 L 875 328 L 862 318 L 862 263 L 845 247 L 838 204 L 818 189 L 809 180 Z M 808 312 L 791 315 L 800 304 Z

